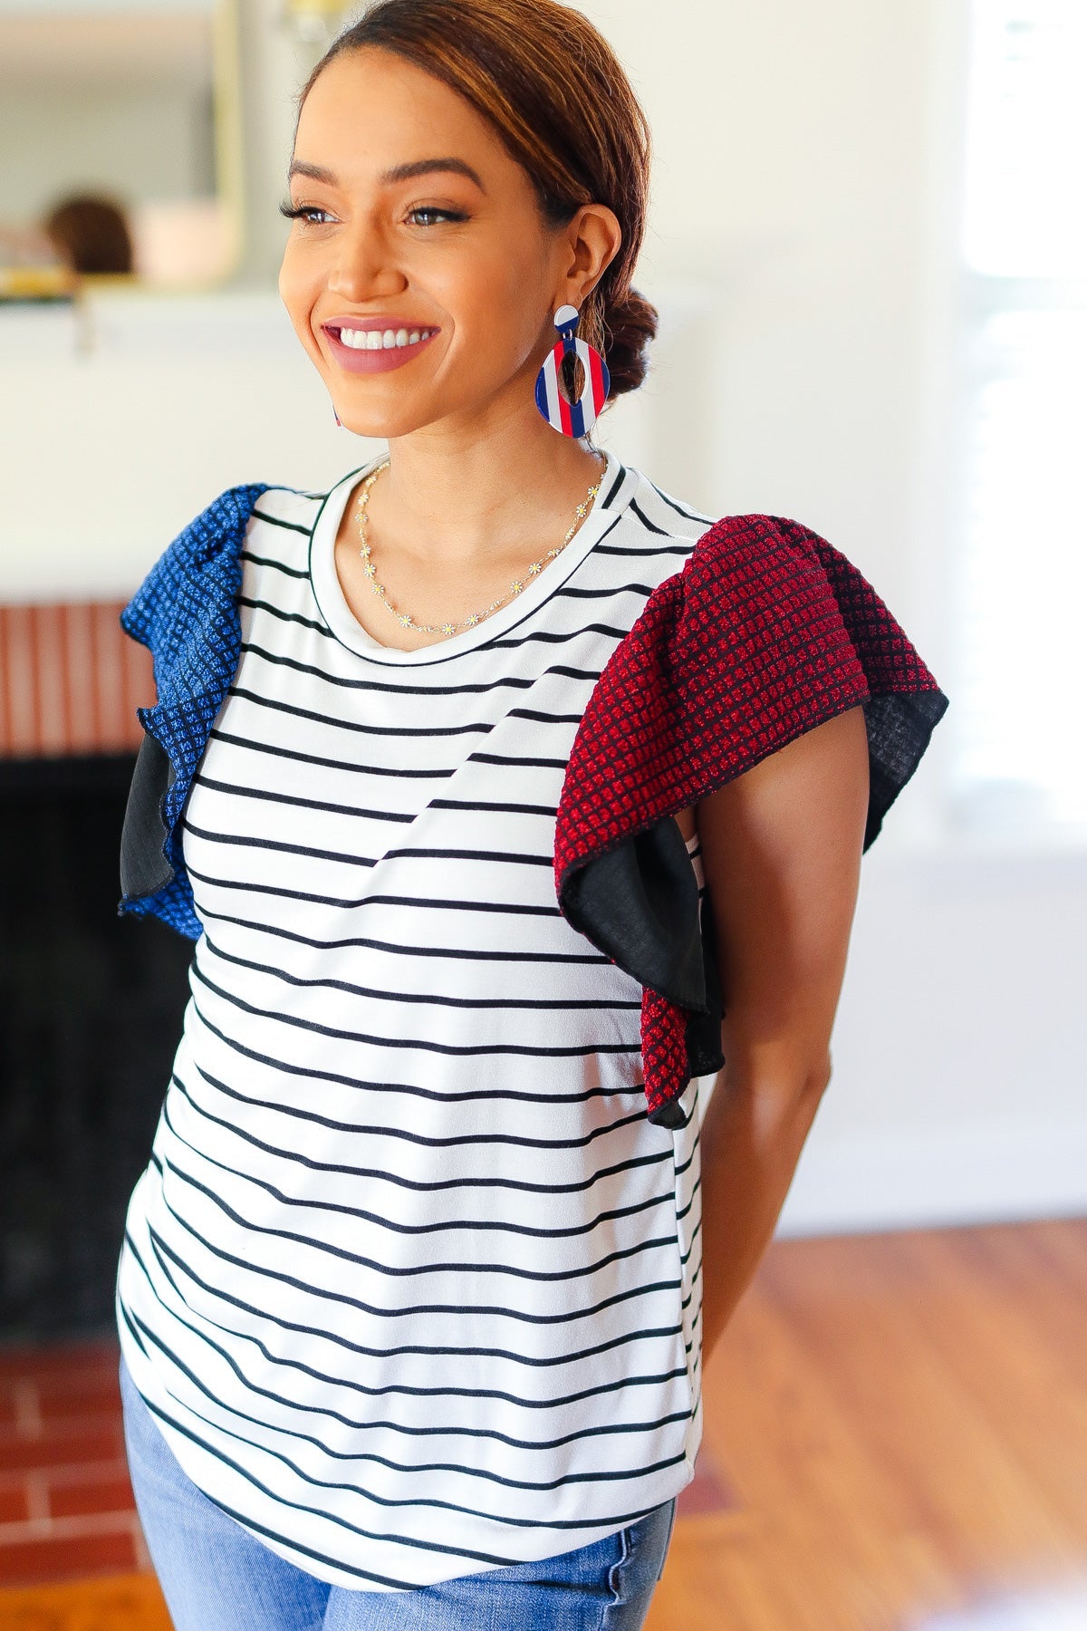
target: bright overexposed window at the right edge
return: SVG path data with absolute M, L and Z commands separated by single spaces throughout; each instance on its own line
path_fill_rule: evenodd
M 952 816 L 976 833 L 1077 842 L 1087 838 L 1085 86 L 1085 0 L 971 0 Z

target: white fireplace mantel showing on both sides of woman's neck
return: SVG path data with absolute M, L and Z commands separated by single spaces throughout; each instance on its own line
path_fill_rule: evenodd
M 657 373 L 600 421 L 600 442 L 709 504 L 709 442 L 670 424 L 668 373 L 699 382 L 698 289 L 676 289 Z M 658 422 L 660 421 L 660 422 Z M 698 414 L 691 413 L 691 422 Z M 72 307 L 0 307 L 0 600 L 129 595 L 169 540 L 240 481 L 319 489 L 380 442 L 337 429 L 274 289 L 96 292 Z M 694 497 L 694 502 L 699 502 Z

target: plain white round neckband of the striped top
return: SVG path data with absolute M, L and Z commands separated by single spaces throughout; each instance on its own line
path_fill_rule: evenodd
M 381 641 L 375 639 L 362 626 L 344 595 L 336 571 L 336 535 L 339 524 L 354 488 L 363 476 L 368 476 L 372 470 L 381 465 L 388 458 L 388 453 L 378 453 L 376 458 L 372 458 L 359 470 L 349 471 L 326 494 L 310 533 L 310 584 L 318 610 L 336 639 L 347 646 L 349 651 L 372 662 L 412 667 L 429 662 L 448 662 L 450 657 L 460 657 L 464 651 L 476 651 L 476 648 L 487 644 L 497 634 L 508 633 L 517 623 L 536 612 L 544 600 L 549 600 L 556 589 L 562 587 L 592 548 L 600 543 L 605 532 L 614 525 L 634 496 L 637 481 L 632 471 L 610 449 L 601 447 L 598 452 L 608 460 L 600 491 L 566 548 L 552 561 L 548 561 L 536 577 L 528 581 L 520 595 L 513 595 L 512 600 L 500 605 L 491 617 L 482 618 L 474 628 L 464 628 L 460 634 L 448 634 L 445 639 L 433 641 L 430 646 L 419 646 L 416 651 L 383 646 Z

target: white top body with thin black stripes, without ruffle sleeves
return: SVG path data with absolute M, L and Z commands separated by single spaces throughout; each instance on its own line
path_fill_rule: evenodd
M 520 595 L 399 651 L 334 564 L 378 462 L 249 522 L 117 1323 L 212 1501 L 394 1592 L 587 1546 L 694 1476 L 712 1078 L 684 1129 L 647 1120 L 640 987 L 561 915 L 552 851 L 593 683 L 711 517 L 608 453 Z

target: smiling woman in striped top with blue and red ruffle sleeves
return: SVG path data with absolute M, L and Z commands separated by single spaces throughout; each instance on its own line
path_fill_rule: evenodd
M 681 569 L 728 532 L 577 434 L 645 372 L 647 176 L 637 101 L 577 11 L 370 8 L 301 95 L 280 292 L 337 418 L 388 455 L 321 496 L 231 489 L 122 613 L 158 703 L 121 910 L 197 941 L 117 1275 L 129 1461 L 178 1631 L 640 1626 L 702 1362 L 830 1076 L 860 851 L 944 703 L 896 625 L 916 661 L 885 700 L 898 723 L 895 693 L 932 706 L 893 762 L 857 667 L 781 750 L 748 724 L 750 768 L 663 824 L 627 801 L 577 891 L 600 944 L 556 905 L 579 724 L 623 703 L 601 687 L 637 638 L 671 641 L 698 696 L 688 623 L 658 610 L 683 586 L 694 617 L 720 572 Z M 559 404 L 564 307 L 593 351 Z M 787 558 L 830 594 L 784 532 L 745 537 L 722 571 Z M 758 599 L 751 630 L 789 628 L 795 595 Z M 810 641 L 781 643 L 805 675 Z M 668 711 L 650 667 L 626 745 Z M 644 871 L 627 894 L 618 863 L 673 866 L 668 833 L 689 891 L 654 897 Z M 715 1039 L 650 1094 L 654 1024 L 683 1010 L 624 967 L 667 964 L 657 928 L 709 895 L 730 990 L 712 1116 Z

